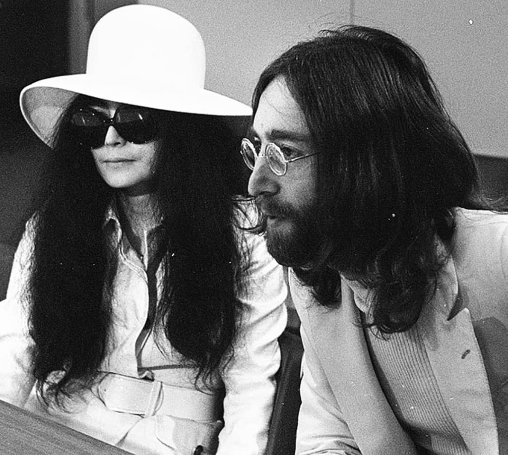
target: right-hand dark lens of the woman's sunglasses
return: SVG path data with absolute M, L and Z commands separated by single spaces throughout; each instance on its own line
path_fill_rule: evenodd
M 115 113 L 114 126 L 129 142 L 144 144 L 157 136 L 157 123 L 148 109 L 121 106 Z

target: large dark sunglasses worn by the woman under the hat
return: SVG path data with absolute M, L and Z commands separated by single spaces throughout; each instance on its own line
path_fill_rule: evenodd
M 92 108 L 77 108 L 71 115 L 70 123 L 79 142 L 90 148 L 104 145 L 111 125 L 123 139 L 134 144 L 150 142 L 158 132 L 157 122 L 150 110 L 137 106 L 120 106 L 113 118 Z

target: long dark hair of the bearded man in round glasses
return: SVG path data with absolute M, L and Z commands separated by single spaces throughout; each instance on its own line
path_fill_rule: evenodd
M 321 247 L 298 276 L 326 306 L 340 305 L 340 275 L 359 280 L 374 290 L 372 325 L 407 330 L 446 261 L 436 238 L 451 239 L 452 209 L 485 207 L 464 138 L 423 60 L 381 30 L 344 26 L 284 52 L 258 81 L 254 114 L 276 78 L 317 152 Z

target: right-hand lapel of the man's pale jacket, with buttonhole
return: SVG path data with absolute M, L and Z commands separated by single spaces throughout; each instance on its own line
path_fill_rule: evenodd
M 472 455 L 497 455 L 496 417 L 469 311 L 463 309 L 448 320 L 457 295 L 457 275 L 450 259 L 432 303 L 422 311 L 418 329 L 441 396 Z

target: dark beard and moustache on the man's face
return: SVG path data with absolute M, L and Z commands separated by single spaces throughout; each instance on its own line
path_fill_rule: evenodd
M 268 252 L 288 267 L 306 267 L 317 251 L 316 216 L 313 207 L 296 210 L 288 204 L 263 201 L 262 230 Z

